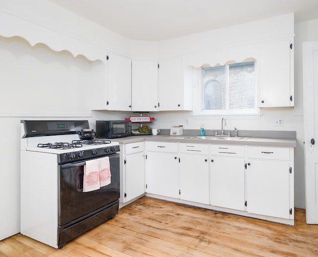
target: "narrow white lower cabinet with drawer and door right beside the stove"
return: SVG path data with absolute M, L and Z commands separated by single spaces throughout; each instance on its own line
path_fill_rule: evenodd
M 125 144 L 121 167 L 120 202 L 130 201 L 145 193 L 144 141 Z

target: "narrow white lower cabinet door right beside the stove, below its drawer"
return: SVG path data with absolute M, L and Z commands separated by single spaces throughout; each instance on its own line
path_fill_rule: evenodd
M 126 201 L 145 193 L 145 153 L 126 155 Z

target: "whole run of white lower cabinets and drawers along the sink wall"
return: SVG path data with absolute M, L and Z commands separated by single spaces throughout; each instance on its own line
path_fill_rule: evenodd
M 146 145 L 147 193 L 294 224 L 293 147 Z

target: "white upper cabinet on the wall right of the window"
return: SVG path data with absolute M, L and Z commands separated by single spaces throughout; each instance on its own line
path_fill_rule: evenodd
M 294 106 L 294 38 L 260 45 L 257 107 Z

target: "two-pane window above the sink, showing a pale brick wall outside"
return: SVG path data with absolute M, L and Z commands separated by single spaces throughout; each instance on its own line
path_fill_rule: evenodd
M 255 62 L 202 68 L 201 113 L 257 113 Z

